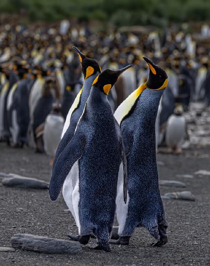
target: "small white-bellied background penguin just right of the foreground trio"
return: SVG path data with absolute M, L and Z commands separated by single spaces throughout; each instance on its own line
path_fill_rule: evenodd
M 186 121 L 183 116 L 183 107 L 179 104 L 166 124 L 165 142 L 167 147 L 172 151 L 181 152 L 181 144 L 183 144 L 185 134 Z

